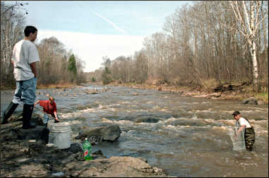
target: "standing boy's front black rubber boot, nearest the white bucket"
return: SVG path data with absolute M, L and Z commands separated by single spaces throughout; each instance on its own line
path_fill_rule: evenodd
M 23 105 L 23 129 L 35 128 L 35 125 L 30 122 L 33 109 L 34 105 Z

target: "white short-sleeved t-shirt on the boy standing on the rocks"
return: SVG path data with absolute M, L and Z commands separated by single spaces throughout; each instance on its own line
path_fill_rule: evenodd
M 11 60 L 14 62 L 14 78 L 16 81 L 26 81 L 34 78 L 30 64 L 40 61 L 37 47 L 30 40 L 20 40 L 13 48 Z

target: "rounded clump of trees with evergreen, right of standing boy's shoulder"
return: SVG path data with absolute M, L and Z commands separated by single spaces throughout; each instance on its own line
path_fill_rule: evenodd
M 40 84 L 85 82 L 84 61 L 71 51 L 66 52 L 64 44 L 56 37 L 41 40 L 37 49 L 40 54 L 37 80 Z

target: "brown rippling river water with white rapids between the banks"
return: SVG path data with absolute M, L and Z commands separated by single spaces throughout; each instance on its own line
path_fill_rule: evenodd
M 89 95 L 88 89 L 96 89 L 99 94 Z M 1 90 L 1 113 L 12 93 Z M 148 164 L 177 177 L 268 177 L 268 105 L 97 85 L 37 90 L 37 99 L 47 99 L 48 93 L 56 99 L 61 120 L 71 124 L 73 142 L 80 142 L 74 137 L 81 129 L 119 125 L 119 141 L 93 146 L 93 152 L 102 150 L 107 158 L 146 158 Z M 252 152 L 233 150 L 230 133 L 235 124 L 234 110 L 254 126 L 256 142 Z

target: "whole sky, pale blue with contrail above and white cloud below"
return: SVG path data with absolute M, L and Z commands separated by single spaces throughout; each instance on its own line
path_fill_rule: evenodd
M 9 1 L 11 2 L 11 1 Z M 191 1 L 23 1 L 26 25 L 37 39 L 56 37 L 95 71 L 102 57 L 115 59 L 142 49 L 144 37 L 162 31 L 165 17 Z

